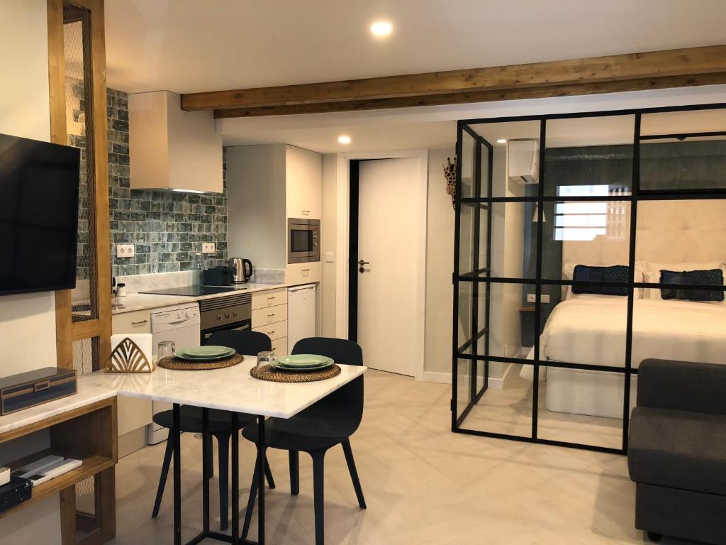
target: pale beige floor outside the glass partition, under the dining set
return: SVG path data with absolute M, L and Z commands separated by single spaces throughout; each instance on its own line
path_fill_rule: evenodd
M 645 541 L 633 527 L 635 485 L 624 456 L 452 434 L 450 397 L 444 384 L 367 374 L 364 419 L 351 443 L 368 509 L 358 508 L 343 451 L 333 449 L 326 457 L 327 544 Z M 244 504 L 253 449 L 241 445 Z M 182 533 L 189 539 L 200 525 L 200 442 L 185 436 L 183 450 Z M 150 516 L 162 457 L 157 445 L 119 462 L 116 545 L 171 544 L 171 482 L 160 516 Z M 289 493 L 287 454 L 272 451 L 270 459 L 277 489 L 266 496 L 267 543 L 314 543 L 309 457 L 301 455 L 298 497 Z M 216 479 L 211 497 L 215 528 Z

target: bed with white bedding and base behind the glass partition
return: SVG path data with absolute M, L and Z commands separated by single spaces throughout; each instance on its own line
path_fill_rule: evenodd
M 726 363 L 726 304 L 656 298 L 633 301 L 632 366 L 647 358 Z M 540 336 L 542 360 L 622 367 L 627 298 L 582 294 L 558 304 Z M 534 354 L 530 354 L 534 358 Z M 532 380 L 533 369 L 522 376 Z M 622 418 L 620 373 L 541 368 L 550 411 Z M 631 405 L 635 403 L 635 377 Z

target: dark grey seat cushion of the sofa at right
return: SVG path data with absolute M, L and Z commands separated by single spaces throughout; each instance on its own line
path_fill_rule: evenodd
M 636 407 L 628 444 L 636 483 L 726 495 L 726 416 Z

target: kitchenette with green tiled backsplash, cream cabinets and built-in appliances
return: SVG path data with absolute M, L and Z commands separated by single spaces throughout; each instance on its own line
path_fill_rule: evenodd
M 171 92 L 107 97 L 113 334 L 152 334 L 156 357 L 214 331 L 264 332 L 276 355 L 319 333 L 322 156 L 223 149 L 211 114 Z M 152 415 L 168 408 L 119 403 L 121 456 L 166 439 Z

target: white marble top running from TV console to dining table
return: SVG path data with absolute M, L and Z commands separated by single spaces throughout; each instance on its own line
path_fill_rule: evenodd
M 78 377 L 78 393 L 7 416 L 0 416 L 0 433 L 90 405 L 114 395 L 168 401 L 290 418 L 367 370 L 340 366 L 340 374 L 317 382 L 267 382 L 250 375 L 256 356 L 245 356 L 237 366 L 211 371 L 171 371 L 157 368 L 150 374 L 110 374 L 103 371 Z

